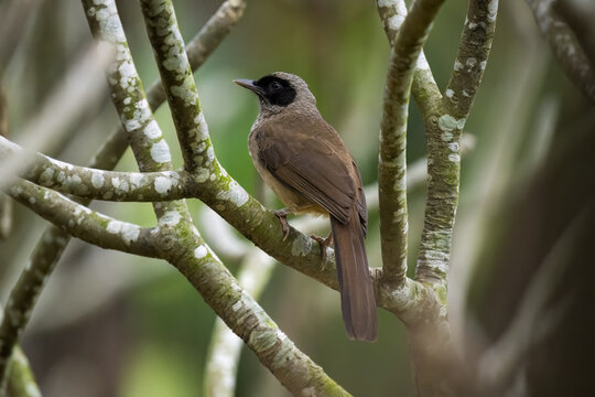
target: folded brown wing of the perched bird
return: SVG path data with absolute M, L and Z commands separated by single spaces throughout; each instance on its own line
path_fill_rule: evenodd
M 351 157 L 326 122 L 264 125 L 256 136 L 259 161 L 279 181 L 346 224 L 359 198 L 359 174 Z M 358 202 L 358 211 L 361 203 Z M 366 206 L 365 201 L 363 204 Z

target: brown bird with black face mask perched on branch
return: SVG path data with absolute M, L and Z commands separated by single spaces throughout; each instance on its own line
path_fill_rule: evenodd
M 302 78 L 275 72 L 235 83 L 260 101 L 248 147 L 259 174 L 288 207 L 275 212 L 285 237 L 290 212 L 329 215 L 331 235 L 318 242 L 326 260 L 334 240 L 345 329 L 353 340 L 375 341 L 376 301 L 364 246 L 368 210 L 354 158 Z

